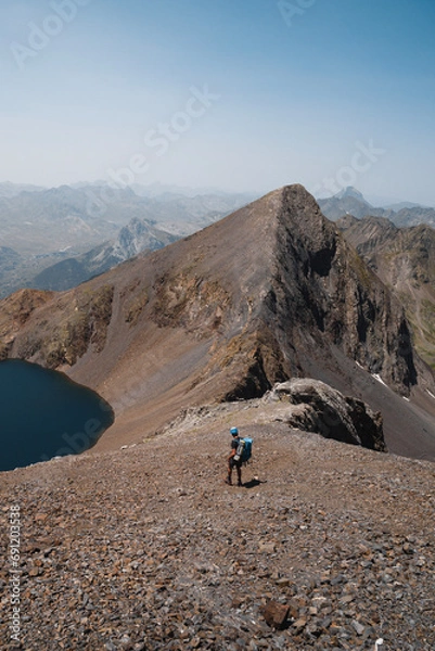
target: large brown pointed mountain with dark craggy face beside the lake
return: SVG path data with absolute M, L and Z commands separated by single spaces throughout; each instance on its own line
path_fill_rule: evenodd
M 370 394 L 376 411 L 385 396 L 370 374 L 406 396 L 435 394 L 401 306 L 300 186 L 54 296 L 18 332 L 0 327 L 3 355 L 68 370 L 112 403 L 117 421 L 102 446 L 191 404 L 258 396 L 294 375 Z M 408 409 L 391 399 L 392 418 Z M 434 452 L 421 418 L 397 434 L 386 414 L 388 447 L 401 437 L 407 454 Z

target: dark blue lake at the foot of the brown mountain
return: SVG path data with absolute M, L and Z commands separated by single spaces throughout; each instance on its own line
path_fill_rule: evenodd
M 108 403 L 63 373 L 0 361 L 0 471 L 84 452 L 113 421 Z

